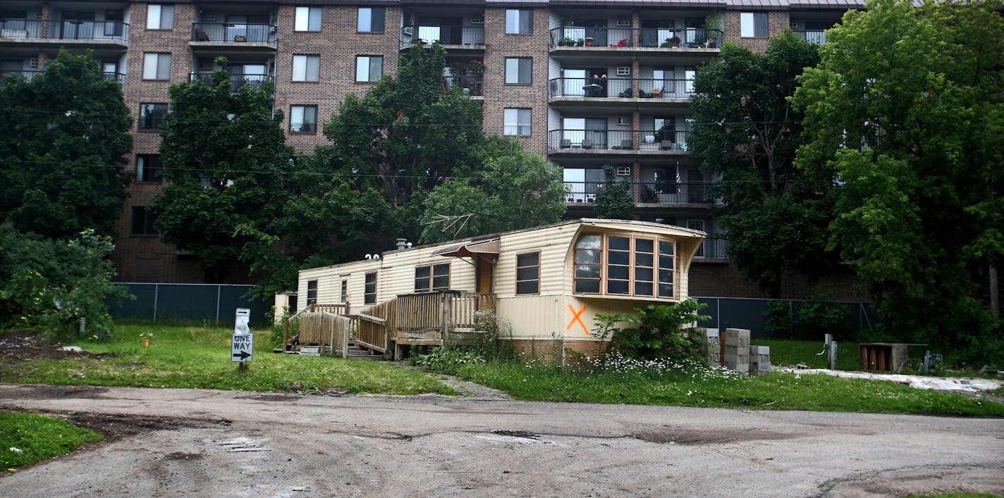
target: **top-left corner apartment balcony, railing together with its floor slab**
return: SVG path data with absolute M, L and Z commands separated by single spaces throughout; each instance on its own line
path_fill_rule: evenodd
M 0 43 L 35 46 L 67 45 L 97 48 L 129 42 L 129 24 L 120 21 L 48 21 L 4 19 L 0 21 Z

